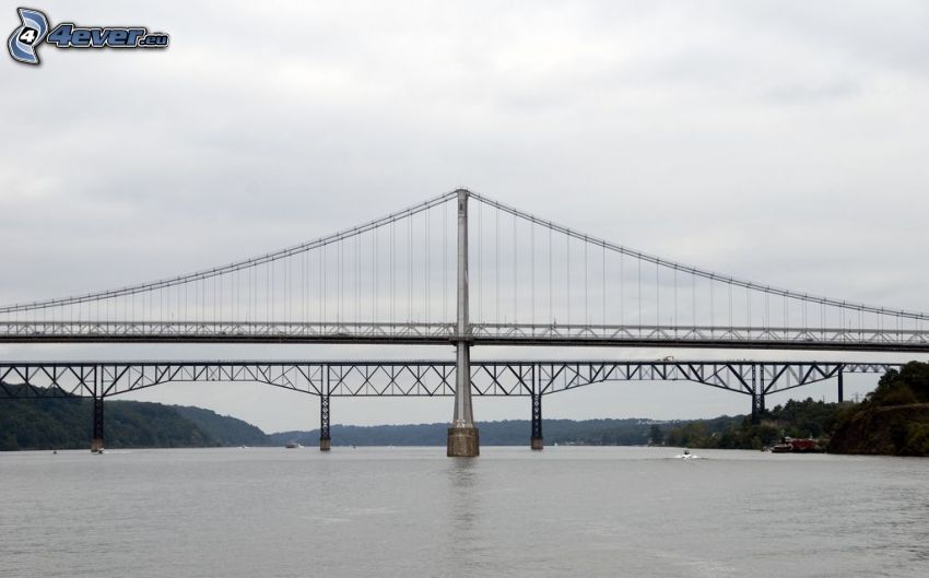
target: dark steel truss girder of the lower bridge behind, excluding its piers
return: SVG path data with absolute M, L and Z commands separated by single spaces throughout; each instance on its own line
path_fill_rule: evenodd
M 471 363 L 472 394 L 546 396 L 604 381 L 692 381 L 766 396 L 889 363 L 493 361 Z M 7 398 L 110 397 L 168 382 L 250 382 L 324 397 L 448 397 L 455 362 L 0 362 Z

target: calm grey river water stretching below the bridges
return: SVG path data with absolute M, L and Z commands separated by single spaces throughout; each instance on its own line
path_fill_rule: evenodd
M 929 576 L 926 459 L 482 451 L 2 453 L 0 576 Z

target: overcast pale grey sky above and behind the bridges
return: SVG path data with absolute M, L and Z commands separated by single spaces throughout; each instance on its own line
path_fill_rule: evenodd
M 0 9 L 10 31 L 19 25 L 16 5 Z M 0 63 L 3 304 L 266 253 L 468 187 L 685 263 L 840 299 L 929 309 L 925 2 L 34 8 L 52 24 L 144 25 L 168 33 L 170 46 L 45 46 L 40 67 Z M 472 355 L 542 355 L 484 350 Z M 451 353 L 0 345 L 7 359 Z M 872 377 L 851 376 L 846 391 L 873 385 Z M 835 386 L 792 394 L 833 400 Z M 319 423 L 316 398 L 267 386 L 177 384 L 131 399 L 196 404 L 268 432 Z M 529 410 L 528 399 L 481 399 L 474 411 L 480 422 L 528 418 Z M 560 393 L 544 408 L 548 417 L 572 418 L 748 410 L 744 396 L 643 382 Z M 352 424 L 450 415 L 450 399 L 336 400 L 332 409 L 333 423 Z

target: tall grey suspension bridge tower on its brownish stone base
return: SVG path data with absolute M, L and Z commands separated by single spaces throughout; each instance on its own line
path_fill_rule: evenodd
M 455 415 L 448 428 L 449 458 L 480 455 L 478 428 L 471 413 L 471 327 L 468 321 L 468 197 L 458 189 L 458 326 L 455 332 Z

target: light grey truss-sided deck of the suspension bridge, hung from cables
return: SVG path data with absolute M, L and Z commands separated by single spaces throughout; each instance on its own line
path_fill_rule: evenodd
M 929 352 L 929 331 L 471 323 L 484 345 L 623 345 Z M 455 323 L 0 321 L 0 342 L 451 343 Z

